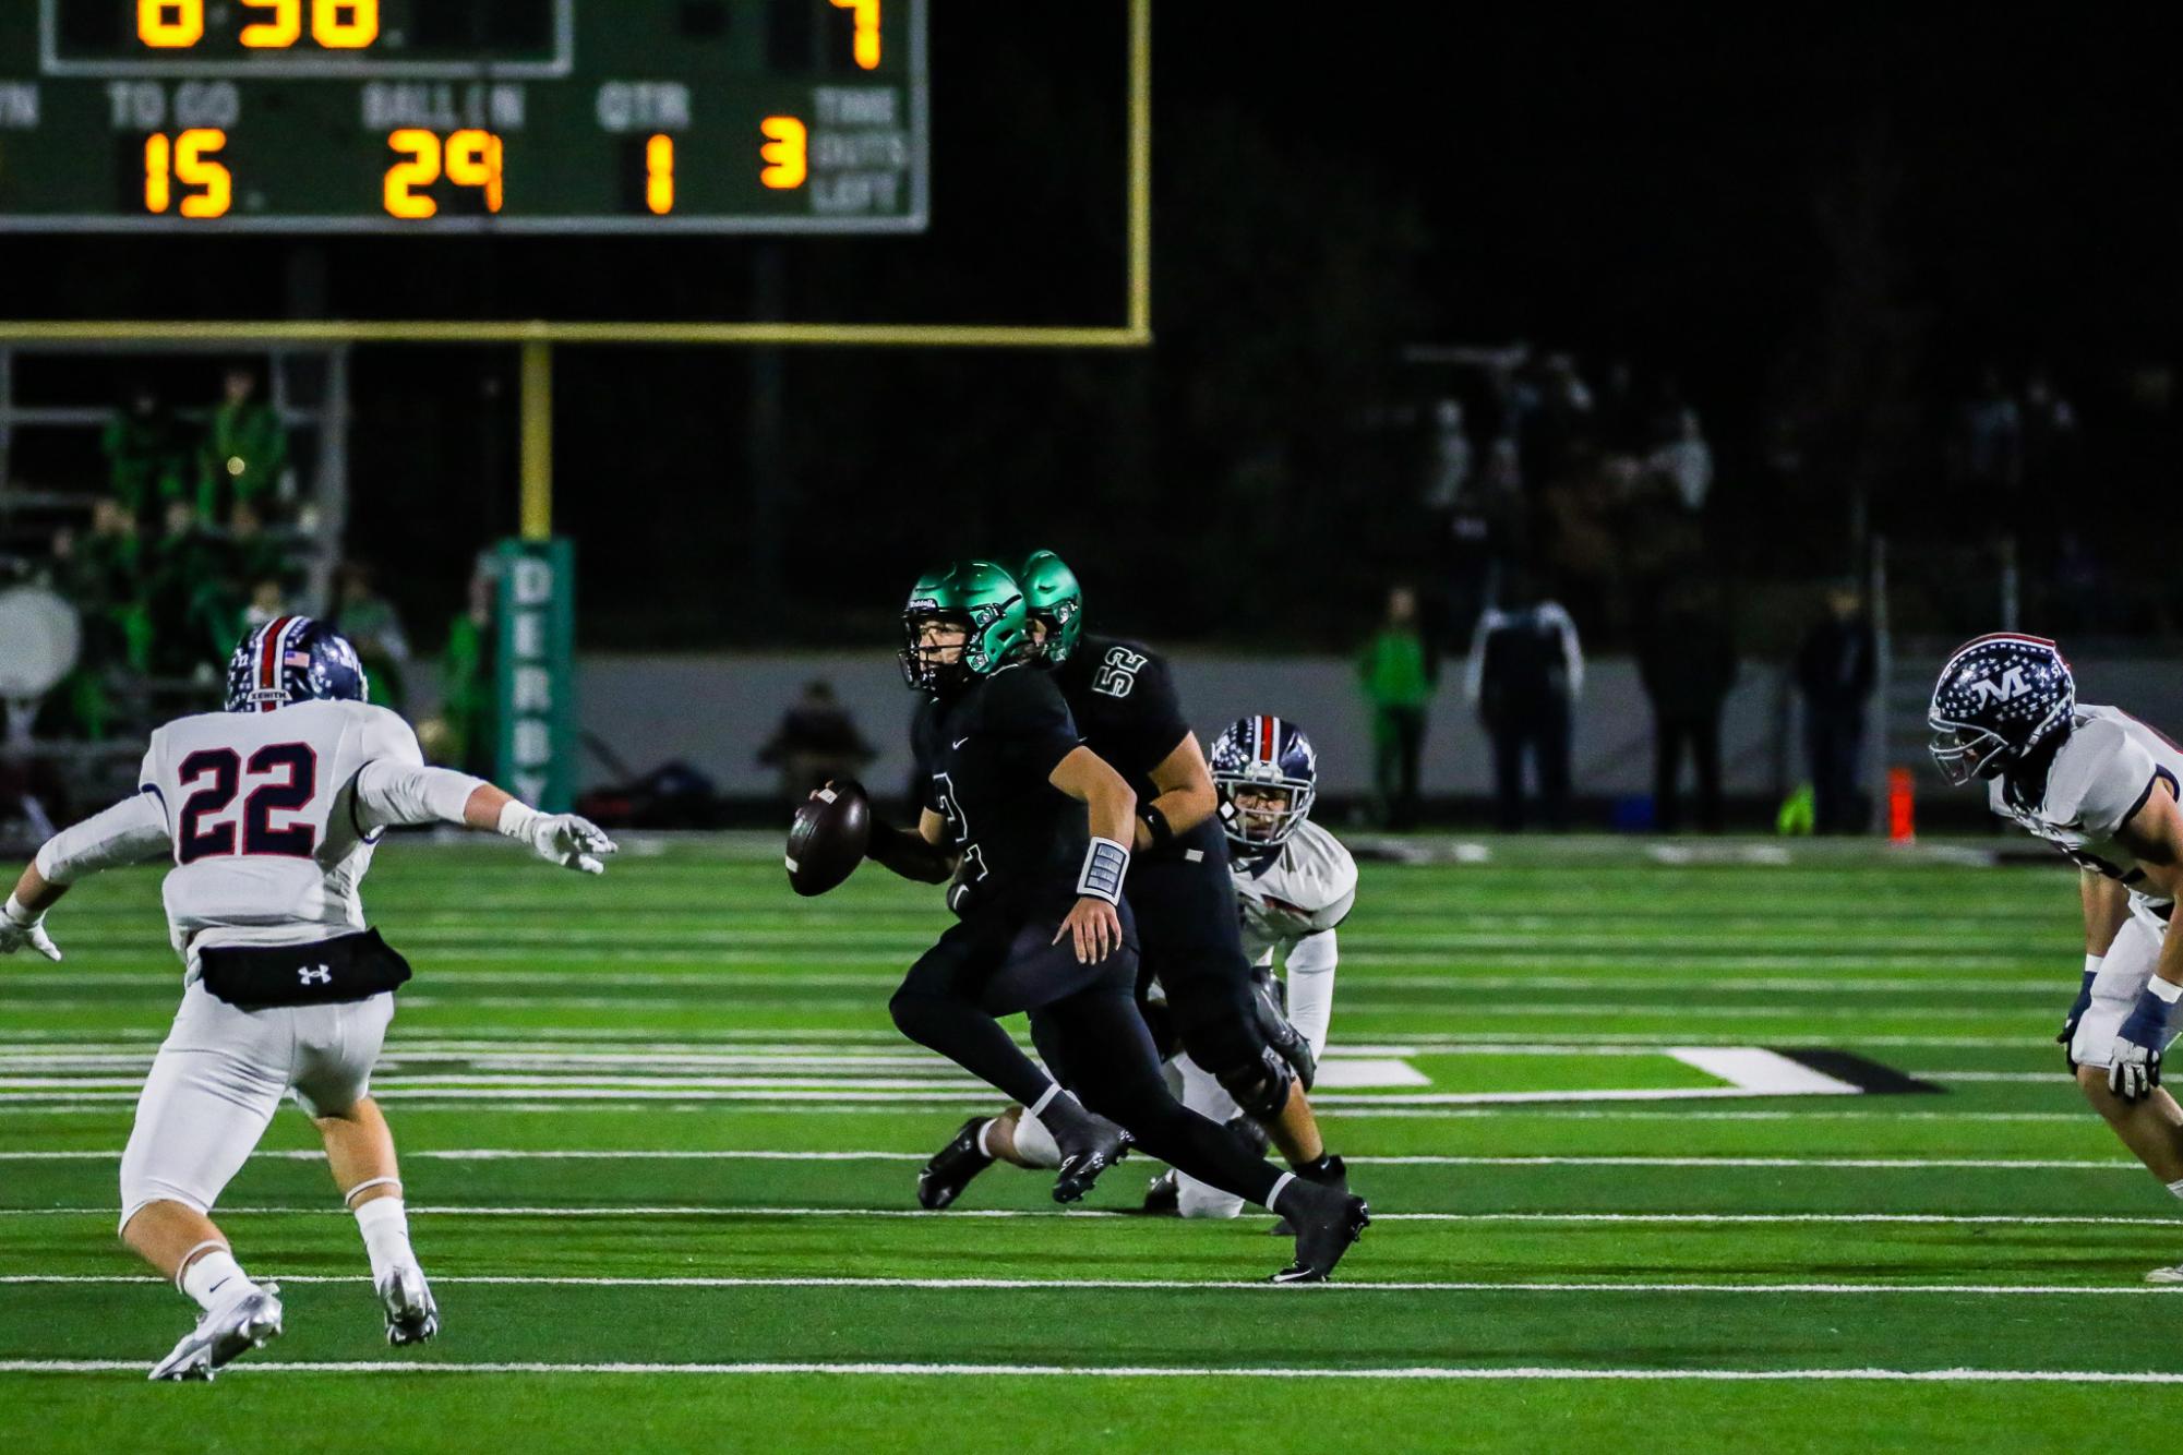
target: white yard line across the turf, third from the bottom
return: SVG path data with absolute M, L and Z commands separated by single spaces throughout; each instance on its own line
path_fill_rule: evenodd
M 1105 1209 L 797 1209 L 797 1206 L 419 1206 L 421 1217 L 1126 1217 L 1142 1213 Z M 218 1209 L 220 1217 L 349 1217 L 341 1206 L 306 1209 Z M 114 1217 L 111 1206 L 68 1209 L 0 1209 L 0 1217 Z M 1450 1222 L 1450 1224 L 1657 1224 L 1657 1226 L 1864 1226 L 1901 1224 L 1932 1228 L 2168 1228 L 2183 1230 L 2183 1217 L 2118 1217 L 2100 1213 L 1373 1213 L 1373 1222 Z

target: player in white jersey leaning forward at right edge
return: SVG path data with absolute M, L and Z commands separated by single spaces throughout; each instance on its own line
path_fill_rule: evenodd
M 2115 707 L 2080 707 L 2052 641 L 2017 633 L 1956 650 L 1932 689 L 1932 757 L 1952 783 L 2078 866 L 2085 979 L 2063 1021 L 2085 1099 L 2183 1198 L 2183 1108 L 2161 1089 L 2183 999 L 2183 748 Z M 2148 1274 L 2183 1283 L 2183 1267 Z

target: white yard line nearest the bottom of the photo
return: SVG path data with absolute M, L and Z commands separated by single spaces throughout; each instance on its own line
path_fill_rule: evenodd
M 1308 1285 L 1305 1285 L 1308 1287 Z M 1334 1283 L 1332 1289 L 1347 1285 Z M 1118 1366 L 1118 1363 L 397 1363 L 247 1359 L 258 1374 L 843 1374 L 843 1376 L 1006 1376 L 1006 1379 L 1395 1379 L 1395 1381 L 1677 1381 L 1677 1383 L 2039 1383 L 2039 1385 L 2183 1385 L 2163 1370 L 1602 1370 L 1550 1366 Z M 0 1359 L 0 1374 L 140 1374 L 142 1359 Z

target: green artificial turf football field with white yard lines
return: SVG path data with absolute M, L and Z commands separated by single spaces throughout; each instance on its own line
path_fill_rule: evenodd
M 773 842 L 603 881 L 391 844 L 417 964 L 378 1075 L 443 1335 L 389 1350 L 288 1110 L 218 1217 L 286 1337 L 148 1385 L 192 1304 L 114 1241 L 172 1014 L 155 873 L 0 964 L 0 1433 L 17 1451 L 2076 1448 L 2183 1414 L 2183 1209 L 2061 1073 L 2065 868 L 1495 842 L 1367 864 L 1319 1093 L 1375 1226 L 1257 1283 L 1268 1217 L 912 1178 L 995 1099 L 886 1021 L 939 931 Z M 1842 1051 L 1858 1060 L 1781 1051 Z M 1880 1069 L 1925 1089 L 1890 1084 Z M 1895 1078 L 1899 1084 L 1899 1078 Z M 2128 1418 L 2124 1418 L 2128 1416 Z

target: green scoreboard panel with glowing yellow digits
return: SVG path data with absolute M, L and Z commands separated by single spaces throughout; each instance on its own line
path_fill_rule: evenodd
M 0 231 L 921 231 L 928 0 L 0 0 Z

